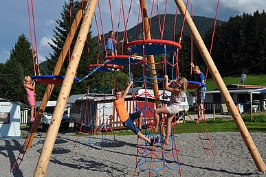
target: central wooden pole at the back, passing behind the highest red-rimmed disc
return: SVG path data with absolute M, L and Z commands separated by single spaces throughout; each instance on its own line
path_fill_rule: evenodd
M 142 4 L 143 3 L 143 4 Z M 146 1 L 145 0 L 140 0 L 140 5 L 142 5 L 143 8 L 143 23 L 144 23 L 144 30 L 146 34 L 146 39 L 151 39 L 151 32 L 148 27 L 148 14 L 147 14 L 147 7 L 146 7 Z M 148 61 L 151 62 L 151 78 L 153 78 L 153 93 L 155 97 L 155 106 L 156 108 L 161 107 L 160 101 L 159 101 L 159 88 L 157 84 L 157 75 L 156 75 L 156 67 L 155 67 L 155 62 L 154 62 L 154 56 L 149 55 L 148 56 Z

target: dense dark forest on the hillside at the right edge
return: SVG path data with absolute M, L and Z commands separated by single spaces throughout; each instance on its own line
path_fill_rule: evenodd
M 210 46 L 211 31 L 206 34 Z M 231 17 L 215 30 L 212 58 L 221 75 L 266 73 L 266 14 Z

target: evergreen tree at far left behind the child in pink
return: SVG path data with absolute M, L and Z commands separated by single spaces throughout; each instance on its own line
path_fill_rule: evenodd
M 15 99 L 27 104 L 23 79 L 25 75 L 33 75 L 32 50 L 30 42 L 24 34 L 19 36 L 10 52 L 10 59 L 1 64 L 0 91 L 1 96 Z

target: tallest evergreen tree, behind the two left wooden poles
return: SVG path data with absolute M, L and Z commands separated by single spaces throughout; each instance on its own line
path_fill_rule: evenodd
M 50 58 L 47 60 L 47 73 L 51 74 L 54 71 L 54 67 L 56 65 L 56 62 L 58 60 L 58 57 L 60 55 L 60 52 L 63 48 L 63 45 L 65 43 L 65 40 L 67 38 L 67 34 L 70 31 L 70 12 L 71 9 L 71 21 L 74 20 L 76 13 L 78 12 L 78 9 L 80 8 L 80 2 L 79 1 L 72 1 L 71 8 L 70 3 L 66 3 L 63 5 L 63 10 L 61 12 L 61 19 L 56 20 L 56 27 L 54 29 L 54 39 L 52 44 L 49 44 L 53 51 L 53 54 L 50 54 Z M 81 22 L 80 22 L 81 23 Z M 78 32 L 80 30 L 80 25 L 76 31 L 76 34 L 74 35 L 74 39 L 72 40 L 71 46 L 70 46 L 70 56 L 71 52 L 74 49 L 74 45 L 76 43 L 76 38 L 78 36 Z M 78 69 L 76 72 L 77 78 L 83 78 L 87 73 L 89 72 L 89 69 L 87 67 L 89 64 L 95 64 L 96 51 L 94 51 L 96 48 L 95 41 L 92 39 L 91 30 L 89 30 L 89 34 L 87 36 L 87 42 L 85 43 L 84 49 L 82 51 L 82 55 L 80 57 L 80 62 L 78 64 Z M 67 54 L 65 58 L 65 62 L 63 63 L 63 67 L 60 70 L 60 75 L 65 75 L 65 72 L 67 71 L 67 65 L 69 64 L 69 60 L 71 58 L 69 57 L 69 54 Z M 89 78 L 90 79 L 90 78 Z M 80 94 L 80 93 L 86 93 L 88 85 L 91 85 L 90 80 L 84 80 L 82 82 L 74 83 L 71 89 L 72 94 Z M 54 91 L 51 95 L 51 99 L 57 99 L 58 93 L 60 91 L 60 86 L 55 86 Z

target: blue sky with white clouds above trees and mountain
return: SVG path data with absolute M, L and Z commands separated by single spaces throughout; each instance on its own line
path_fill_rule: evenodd
M 28 0 L 31 4 L 31 0 Z M 148 16 L 151 16 L 151 7 L 153 0 L 146 0 L 148 9 Z M 218 0 L 217 0 L 218 1 Z M 193 9 L 193 15 L 215 17 L 217 9 L 217 1 L 214 0 L 190 0 L 189 6 Z M 60 12 L 64 5 L 63 0 L 35 0 L 33 1 L 34 8 L 34 22 L 36 28 L 36 41 L 38 49 L 39 62 L 45 60 L 45 56 L 49 57 L 49 53 L 52 53 L 52 49 L 49 47 L 48 42 L 52 43 L 51 38 L 54 37 L 53 29 L 56 26 L 56 19 L 61 19 Z M 69 2 L 69 0 L 67 0 Z M 123 0 L 124 2 L 124 14 L 125 19 L 129 12 L 130 0 Z M 157 15 L 155 6 L 153 8 L 153 15 Z M 158 0 L 159 14 L 164 14 L 166 0 Z M 185 1 L 186 3 L 186 1 Z M 127 29 L 137 24 L 137 16 L 139 10 L 139 1 L 133 0 L 131 11 L 129 14 Z M 100 34 L 107 33 L 112 29 L 111 15 L 108 0 L 100 0 L 100 12 L 102 16 L 102 24 L 100 24 L 100 13 L 98 6 L 96 7 L 96 19 L 92 22 L 93 35 L 96 35 L 98 31 Z M 119 31 L 124 30 L 124 21 L 120 15 L 121 0 L 111 0 L 111 12 L 113 16 L 113 28 L 117 31 L 118 24 Z M 168 0 L 166 6 L 167 13 L 175 14 L 176 5 L 174 1 Z M 31 8 L 31 7 L 30 7 Z M 190 9 L 190 8 L 189 8 Z M 265 0 L 220 0 L 219 11 L 217 19 L 222 21 L 228 21 L 230 16 L 241 15 L 243 12 L 253 14 L 256 10 L 262 12 L 266 10 Z M 190 12 L 190 10 L 189 10 Z M 180 13 L 179 13 L 180 14 Z M 30 14 L 32 19 L 32 14 Z M 120 21 L 118 20 L 120 19 Z M 0 62 L 5 63 L 10 58 L 10 51 L 16 44 L 17 39 L 21 34 L 25 34 L 30 40 L 30 27 L 29 27 L 29 15 L 27 13 L 27 1 L 26 0 L 1 0 L 0 6 L 0 21 L 1 21 L 1 32 L 0 32 Z M 98 27 L 96 27 L 96 21 Z M 120 22 L 120 23 L 119 23 Z M 32 22 L 31 22 L 32 23 Z M 32 35 L 33 29 L 32 29 Z M 33 40 L 34 40 L 34 36 Z M 35 43 L 34 49 L 35 48 Z

